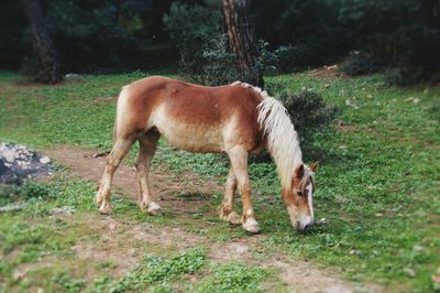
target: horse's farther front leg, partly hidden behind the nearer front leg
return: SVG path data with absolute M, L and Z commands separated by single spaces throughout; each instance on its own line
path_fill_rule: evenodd
M 241 224 L 240 216 L 233 209 L 234 207 L 233 197 L 235 194 L 235 189 L 237 189 L 237 176 L 231 165 L 229 167 L 227 188 L 224 192 L 223 202 L 221 203 L 220 206 L 219 214 L 220 214 L 220 219 L 229 221 L 232 225 L 240 225 Z

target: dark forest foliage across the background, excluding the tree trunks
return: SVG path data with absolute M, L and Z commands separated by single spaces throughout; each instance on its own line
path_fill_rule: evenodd
M 216 59 L 212 43 L 224 33 L 219 1 L 42 0 L 42 4 L 65 72 L 157 69 L 175 67 L 180 59 L 182 70 L 190 76 L 222 73 L 228 79 L 231 74 L 209 63 Z M 351 57 L 348 73 L 372 72 L 367 56 L 373 70 L 376 65 L 398 68 L 391 79 L 399 84 L 440 79 L 438 1 L 273 0 L 253 1 L 251 9 L 257 39 L 278 56 L 278 72 L 337 63 L 359 51 L 362 54 Z M 0 67 L 35 72 L 21 2 L 1 3 L 0 19 Z M 229 53 L 219 58 L 229 59 Z

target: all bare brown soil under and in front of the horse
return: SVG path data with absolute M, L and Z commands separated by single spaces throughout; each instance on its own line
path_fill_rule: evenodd
M 45 153 L 65 165 L 69 173 L 78 178 L 98 182 L 103 172 L 105 158 L 94 158 L 94 154 L 99 153 L 97 150 L 57 146 Z M 179 194 L 182 191 L 189 194 L 209 195 L 223 189 L 223 186 L 219 186 L 215 182 L 200 184 L 201 181 L 189 172 L 176 177 L 164 167 L 153 170 L 150 182 L 153 184 L 152 188 L 158 204 L 164 209 L 172 206 L 174 210 L 182 213 L 197 210 L 200 205 L 207 203 L 206 200 L 168 200 L 167 197 Z M 199 184 L 194 184 L 194 182 Z M 114 176 L 113 186 L 130 195 L 131 198 L 138 198 L 136 174 L 132 167 L 122 164 Z M 160 200 L 161 198 L 165 200 Z M 217 211 L 212 210 L 212 213 Z M 98 211 L 74 215 L 69 220 L 86 223 L 99 236 L 97 241 L 82 241 L 73 247 L 78 259 L 91 263 L 110 261 L 114 264 L 111 271 L 113 275 L 122 275 L 129 271 L 148 251 L 157 251 L 157 249 L 180 251 L 195 246 L 206 246 L 209 248 L 210 261 L 241 260 L 276 271 L 289 292 L 345 293 L 360 291 L 359 286 L 355 287 L 354 284 L 341 280 L 329 269 L 320 269 L 309 262 L 292 259 L 292 257 L 278 252 L 256 253 L 260 249 L 258 242 L 265 238 L 264 235 L 216 242 L 205 236 L 190 232 L 185 227 L 178 227 L 178 225 L 164 228 L 150 223 L 124 223 L 112 216 L 101 216 Z M 271 290 L 271 284 L 265 284 L 264 290 L 274 291 L 274 289 Z M 362 285 L 361 290 L 382 291 L 380 286 L 369 284 Z

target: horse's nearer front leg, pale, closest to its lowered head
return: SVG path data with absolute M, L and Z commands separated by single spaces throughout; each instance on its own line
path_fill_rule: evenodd
M 244 230 L 252 234 L 257 234 L 260 232 L 260 225 L 255 220 L 254 210 L 251 203 L 251 182 L 248 173 L 248 150 L 244 146 L 237 145 L 228 151 L 228 155 L 231 160 L 231 165 L 237 176 L 241 198 L 243 202 L 243 216 L 241 224 Z

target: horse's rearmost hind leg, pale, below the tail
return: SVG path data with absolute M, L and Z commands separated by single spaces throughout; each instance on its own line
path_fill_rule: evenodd
M 122 139 L 117 138 L 113 144 L 113 149 L 107 156 L 106 170 L 103 172 L 101 184 L 96 195 L 96 203 L 99 206 L 99 213 L 111 214 L 113 210 L 110 204 L 110 187 L 113 180 L 114 171 L 117 171 L 122 159 L 129 152 L 133 145 L 134 139 Z

